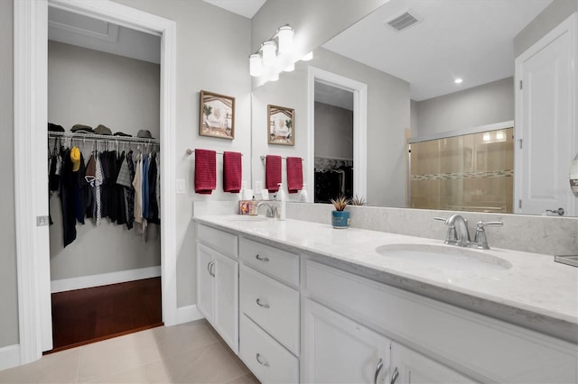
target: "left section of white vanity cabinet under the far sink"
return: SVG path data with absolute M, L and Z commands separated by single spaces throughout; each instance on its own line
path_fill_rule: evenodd
M 238 353 L 238 237 L 197 227 L 197 308 Z

